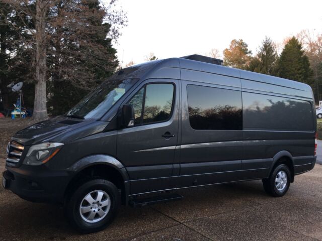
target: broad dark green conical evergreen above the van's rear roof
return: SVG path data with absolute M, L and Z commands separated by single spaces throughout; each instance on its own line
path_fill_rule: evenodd
M 285 45 L 278 60 L 278 75 L 282 78 L 312 84 L 313 71 L 302 45 L 292 37 Z

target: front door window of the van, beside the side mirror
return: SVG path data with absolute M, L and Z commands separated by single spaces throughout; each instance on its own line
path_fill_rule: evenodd
M 173 84 L 155 83 L 145 85 L 128 102 L 134 108 L 134 125 L 163 122 L 169 119 L 173 97 Z

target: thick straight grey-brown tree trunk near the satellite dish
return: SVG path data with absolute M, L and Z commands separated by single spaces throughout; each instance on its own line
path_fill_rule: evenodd
M 33 118 L 43 121 L 48 118 L 46 106 L 46 1 L 36 1 L 36 85 Z

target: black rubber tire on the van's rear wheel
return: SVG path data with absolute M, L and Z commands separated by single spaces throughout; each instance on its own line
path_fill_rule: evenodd
M 279 175 L 285 175 L 286 176 L 286 181 L 285 178 L 283 178 L 284 183 L 286 184 L 281 184 L 279 188 L 276 186 L 278 183 L 275 182 L 275 179 Z M 267 194 L 273 196 L 273 197 L 282 197 L 285 195 L 285 193 L 288 191 L 289 187 L 291 184 L 291 172 L 288 166 L 285 164 L 280 164 L 275 167 L 275 169 L 272 171 L 268 179 L 263 179 L 263 187 L 264 190 Z

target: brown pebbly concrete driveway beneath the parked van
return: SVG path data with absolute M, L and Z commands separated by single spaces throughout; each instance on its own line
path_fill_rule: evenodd
M 282 198 L 267 196 L 261 181 L 185 189 L 180 201 L 122 207 L 110 227 L 87 235 L 69 226 L 61 208 L 1 187 L 0 240 L 322 240 L 321 182 L 316 165 Z

